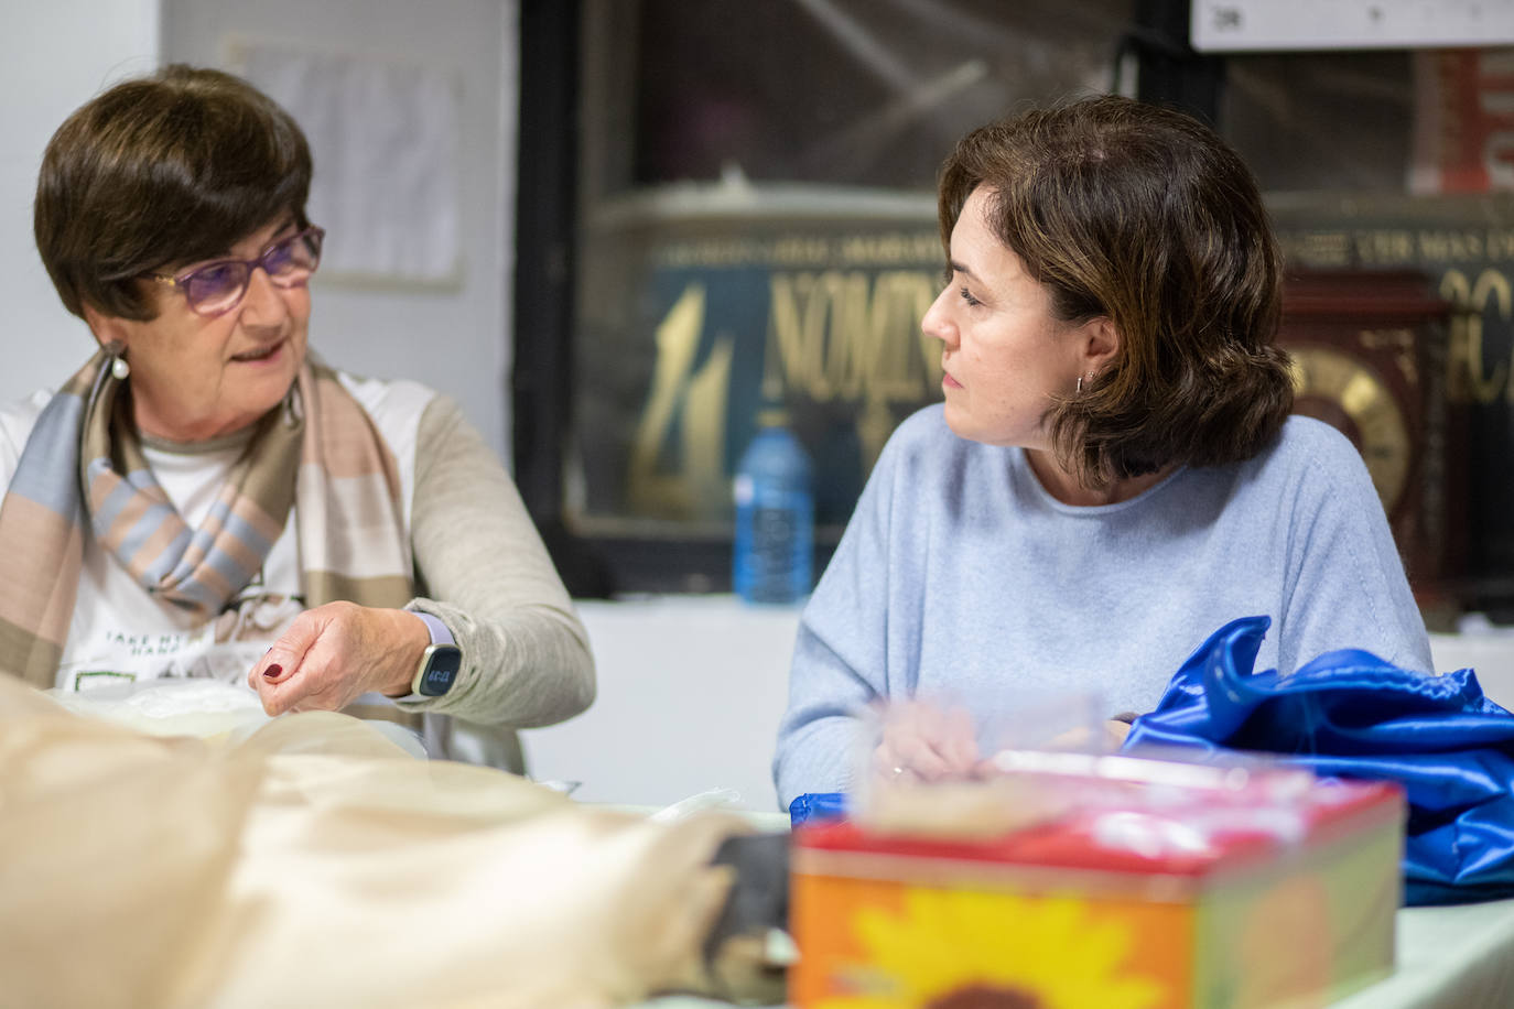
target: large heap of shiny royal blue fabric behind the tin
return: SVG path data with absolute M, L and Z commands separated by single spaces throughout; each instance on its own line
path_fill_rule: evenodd
M 1216 631 L 1125 749 L 1263 750 L 1316 775 L 1394 781 L 1408 797 L 1403 903 L 1514 896 L 1514 716 L 1470 669 L 1419 676 L 1361 650 L 1291 676 L 1252 666 L 1272 622 Z

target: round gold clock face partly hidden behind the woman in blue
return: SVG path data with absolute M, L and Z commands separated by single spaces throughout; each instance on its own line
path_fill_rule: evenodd
M 1390 516 L 1410 475 L 1408 424 L 1382 377 L 1366 362 L 1326 346 L 1290 346 L 1293 411 L 1317 418 L 1352 440 Z

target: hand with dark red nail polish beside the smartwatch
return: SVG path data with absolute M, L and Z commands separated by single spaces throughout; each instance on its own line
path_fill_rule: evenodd
M 247 682 L 268 714 L 341 711 L 371 690 L 391 697 L 410 693 L 430 643 L 413 613 L 329 602 L 295 617 Z

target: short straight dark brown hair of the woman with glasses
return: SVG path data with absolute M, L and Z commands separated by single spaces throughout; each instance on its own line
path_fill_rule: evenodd
M 239 77 L 174 64 L 58 127 L 32 224 L 70 312 L 151 319 L 142 274 L 223 256 L 279 213 L 304 227 L 309 192 L 310 148 L 288 112 Z

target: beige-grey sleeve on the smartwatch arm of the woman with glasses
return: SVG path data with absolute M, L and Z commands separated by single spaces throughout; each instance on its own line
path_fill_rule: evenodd
M 457 682 L 410 711 L 495 726 L 562 722 L 593 700 L 589 637 L 515 483 L 457 404 L 438 396 L 416 436 L 410 523 L 424 598 L 463 654 Z

